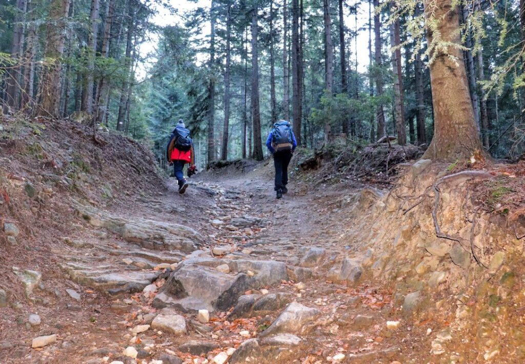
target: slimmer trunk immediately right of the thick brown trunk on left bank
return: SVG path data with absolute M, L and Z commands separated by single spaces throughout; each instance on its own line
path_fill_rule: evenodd
M 84 90 L 82 92 L 82 111 L 89 114 L 93 112 L 93 73 L 95 72 L 95 55 L 97 53 L 97 35 L 99 18 L 99 0 L 91 0 L 89 22 L 91 28 L 88 33 L 87 46 L 87 75 Z

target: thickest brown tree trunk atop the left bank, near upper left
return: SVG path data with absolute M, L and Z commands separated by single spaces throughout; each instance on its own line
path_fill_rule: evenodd
M 64 53 L 66 34 L 66 17 L 69 12 L 69 0 L 53 0 L 49 7 L 46 47 L 44 56 L 47 59 L 41 78 L 42 99 L 38 115 L 59 117 L 60 103 L 60 73 L 62 63 L 60 58 Z

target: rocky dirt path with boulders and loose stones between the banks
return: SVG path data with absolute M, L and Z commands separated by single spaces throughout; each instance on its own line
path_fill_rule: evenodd
M 355 285 L 361 268 L 346 258 L 357 243 L 345 240 L 346 207 L 359 188 L 298 184 L 276 201 L 269 186 L 253 172 L 208 177 L 184 196 L 171 190 L 125 213 L 76 203 L 83 233 L 56 251 L 69 289 L 19 272 L 38 319 L 28 316 L 18 340 L 0 343 L 0 362 L 417 358 L 422 333 L 398 329 L 392 292 Z

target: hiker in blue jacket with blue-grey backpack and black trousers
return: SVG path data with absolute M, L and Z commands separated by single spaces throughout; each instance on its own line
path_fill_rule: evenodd
M 297 147 L 297 141 L 291 125 L 286 120 L 278 121 L 274 124 L 268 139 L 266 140 L 266 146 L 271 154 L 274 155 L 274 166 L 275 166 L 275 191 L 277 192 L 277 198 L 281 198 L 282 194 L 286 194 L 288 189 L 288 164 L 292 158 L 292 153 Z

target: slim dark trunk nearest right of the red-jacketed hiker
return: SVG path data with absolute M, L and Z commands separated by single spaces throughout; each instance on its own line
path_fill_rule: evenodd
M 212 0 L 210 12 L 210 40 L 209 40 L 209 68 L 215 68 L 215 2 Z M 208 166 L 215 160 L 215 81 L 213 77 L 209 79 L 208 84 Z

